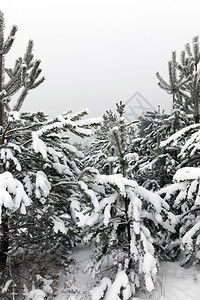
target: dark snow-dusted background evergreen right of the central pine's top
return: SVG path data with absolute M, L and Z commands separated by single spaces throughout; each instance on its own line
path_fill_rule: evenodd
M 139 160 L 135 164 L 135 179 L 150 189 L 158 189 L 172 182 L 179 164 L 175 146 L 162 148 L 162 141 L 192 122 L 180 109 L 171 115 L 146 112 L 139 118 L 138 139 L 133 146 L 138 149 Z

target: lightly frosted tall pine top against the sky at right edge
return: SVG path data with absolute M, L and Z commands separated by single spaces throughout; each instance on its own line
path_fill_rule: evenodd
M 199 37 L 195 36 L 190 44 L 186 44 L 181 52 L 180 62 L 176 60 L 176 52 L 172 53 L 169 62 L 169 83 L 157 72 L 158 85 L 167 93 L 172 94 L 173 109 L 180 108 L 192 114 L 195 123 L 199 123 L 200 83 L 198 64 L 200 61 Z

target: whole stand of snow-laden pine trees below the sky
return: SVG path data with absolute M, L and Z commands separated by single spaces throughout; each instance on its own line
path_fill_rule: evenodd
M 6 67 L 17 27 L 4 28 L 1 12 L 0 298 L 54 299 L 86 245 L 95 284 L 84 299 L 151 299 L 161 262 L 200 262 L 199 37 L 172 53 L 168 80 L 156 74 L 170 114 L 128 122 L 119 101 L 99 118 L 83 109 L 50 119 L 22 110 L 45 78 L 32 40 Z

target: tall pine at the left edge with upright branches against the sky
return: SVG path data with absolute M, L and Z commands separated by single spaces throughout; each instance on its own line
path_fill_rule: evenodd
M 10 51 L 15 39 L 17 27 L 13 26 L 7 39 L 4 38 L 4 15 L 0 12 L 0 126 L 1 126 L 1 148 L 4 147 L 6 141 L 5 136 L 11 128 L 10 119 L 14 118 L 15 113 L 21 107 L 28 91 L 39 86 L 44 77 L 38 79 L 41 73 L 39 69 L 40 61 L 33 62 L 33 42 L 29 41 L 27 51 L 24 58 L 21 57 L 16 60 L 13 69 L 5 68 L 5 56 Z M 8 80 L 6 80 L 8 75 Z M 38 79 L 38 80 L 37 80 Z M 17 103 L 11 112 L 9 105 L 11 97 L 21 90 L 21 94 L 17 99 Z M 10 115 L 9 115 L 10 114 Z M 8 155 L 8 154 L 7 154 Z M 13 161 L 14 162 L 14 161 Z M 14 162 L 15 163 L 15 162 Z M 2 170 L 5 170 L 2 166 Z M 3 201 L 3 200 L 2 200 Z M 5 209 L 3 209 L 4 212 Z M 8 252 L 8 217 L 4 216 L 1 223 L 2 240 L 0 241 L 0 266 L 3 268 L 6 263 L 6 254 Z

